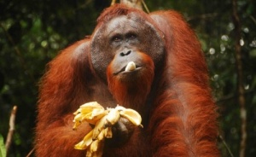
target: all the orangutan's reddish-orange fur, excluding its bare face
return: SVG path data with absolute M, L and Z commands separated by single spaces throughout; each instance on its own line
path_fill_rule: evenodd
M 143 16 L 164 36 L 166 52 L 161 66 L 154 67 L 152 59 L 141 53 L 148 65 L 142 78 L 124 83 L 110 77 L 110 64 L 107 84 L 91 65 L 90 38 L 64 49 L 49 63 L 41 82 L 35 141 L 38 157 L 85 155 L 73 146 L 91 130 L 90 125 L 73 131 L 72 120 L 79 105 L 91 101 L 104 107 L 124 104 L 143 115 L 144 128 L 136 128 L 125 145 L 104 148 L 103 156 L 219 156 L 218 114 L 195 33 L 175 11 L 147 15 L 123 5 L 106 9 L 96 30 L 108 20 L 131 12 Z M 136 91 L 132 90 L 135 86 Z

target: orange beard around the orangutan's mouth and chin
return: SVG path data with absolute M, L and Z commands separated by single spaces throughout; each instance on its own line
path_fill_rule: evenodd
M 146 102 L 148 93 L 151 90 L 151 84 L 154 78 L 154 62 L 152 59 L 143 53 L 139 53 L 143 57 L 145 63 L 143 72 L 140 73 L 138 79 L 123 80 L 119 76 L 113 76 L 112 63 L 108 66 L 108 87 L 116 101 L 126 108 L 134 108 L 142 110 L 143 104 Z M 136 90 L 135 90 L 136 89 Z

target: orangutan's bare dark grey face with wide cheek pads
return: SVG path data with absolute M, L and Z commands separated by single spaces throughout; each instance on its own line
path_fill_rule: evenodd
M 136 63 L 136 71 L 143 68 L 142 55 L 138 52 L 150 56 L 155 66 L 158 65 L 164 53 L 160 33 L 138 15 L 113 18 L 100 27 L 92 38 L 92 65 L 104 80 L 106 80 L 106 69 L 111 61 L 113 75 L 125 74 L 124 70 L 129 61 Z

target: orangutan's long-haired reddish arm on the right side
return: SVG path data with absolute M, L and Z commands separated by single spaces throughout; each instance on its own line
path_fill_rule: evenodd
M 219 156 L 216 106 L 198 39 L 174 11 L 152 17 L 166 34 L 166 78 L 160 88 L 168 86 L 155 100 L 149 123 L 154 156 Z

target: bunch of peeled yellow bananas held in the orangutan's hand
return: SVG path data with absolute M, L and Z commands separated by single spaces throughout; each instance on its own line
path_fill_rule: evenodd
M 130 120 L 133 125 L 143 126 L 141 125 L 142 117 L 137 111 L 119 105 L 116 108 L 105 110 L 97 102 L 88 102 L 81 105 L 73 114 L 75 115 L 73 130 L 76 130 L 84 121 L 95 125 L 94 129 L 74 146 L 75 149 L 86 149 L 87 157 L 102 156 L 104 139 L 113 137 L 112 126 L 118 122 L 120 117 Z

